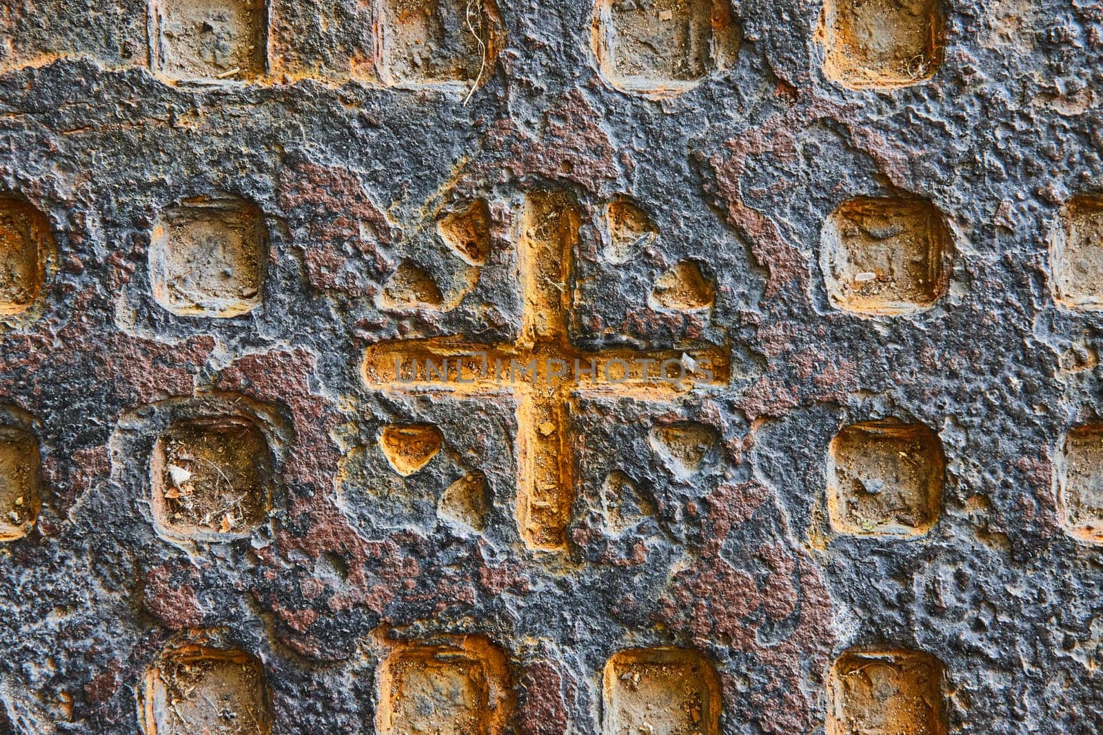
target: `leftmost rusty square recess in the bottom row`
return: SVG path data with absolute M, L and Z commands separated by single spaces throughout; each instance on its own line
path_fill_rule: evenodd
M 146 674 L 146 735 L 268 735 L 264 668 L 243 651 L 182 646 Z

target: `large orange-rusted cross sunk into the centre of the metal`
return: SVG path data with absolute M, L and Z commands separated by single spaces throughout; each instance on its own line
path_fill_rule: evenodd
M 728 381 L 730 358 L 718 347 L 587 351 L 570 340 L 571 263 L 581 217 L 559 192 L 531 192 L 515 241 L 523 288 L 520 338 L 479 344 L 462 337 L 397 340 L 371 347 L 364 380 L 400 392 L 450 392 L 460 397 L 511 393 L 517 401 L 515 516 L 531 548 L 561 551 L 575 499 L 570 439 L 577 391 L 670 400 L 698 385 Z

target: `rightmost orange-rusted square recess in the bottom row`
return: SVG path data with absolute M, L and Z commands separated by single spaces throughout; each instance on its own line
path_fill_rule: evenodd
M 922 651 L 850 651 L 827 681 L 827 735 L 945 735 L 942 662 Z

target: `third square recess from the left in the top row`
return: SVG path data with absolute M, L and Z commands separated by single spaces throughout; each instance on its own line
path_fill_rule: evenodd
M 627 92 L 676 94 L 735 56 L 730 9 L 716 0 L 599 0 L 593 50 L 606 79 Z

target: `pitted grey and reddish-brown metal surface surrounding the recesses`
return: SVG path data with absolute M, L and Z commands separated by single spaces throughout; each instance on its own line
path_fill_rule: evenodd
M 1099 7 L 939 3 L 943 45 L 911 66 L 888 47 L 898 76 L 853 90 L 824 73 L 842 46 L 817 3 L 711 3 L 738 51 L 641 56 L 619 73 L 655 76 L 624 90 L 595 51 L 604 2 L 482 3 L 474 35 L 445 0 L 153 4 L 208 8 L 232 36 L 218 51 L 200 21 L 162 51 L 228 55 L 159 66 L 142 0 L 0 8 L 0 188 L 56 247 L 33 303 L 0 317 L 0 417 L 38 439 L 42 478 L 36 523 L 0 550 L 0 729 L 141 732 L 150 668 L 197 630 L 250 657 L 214 660 L 259 663 L 264 693 L 238 701 L 280 734 L 372 732 L 390 649 L 467 635 L 502 651 L 526 735 L 600 732 L 610 658 L 663 647 L 708 658 L 725 734 L 822 732 L 853 650 L 941 662 L 950 732 L 1103 727 L 1103 565 L 1062 530 L 1053 484 L 1062 437 L 1101 418 L 1103 322 L 1065 308 L 1080 291 L 1058 306 L 1049 257 L 1095 226 L 1070 227 L 1065 203 L 1103 175 Z M 627 52 L 675 18 L 708 35 L 710 3 L 631 4 L 670 21 L 623 18 Z M 381 25 L 406 6 L 427 20 Z M 918 50 L 934 25 L 914 19 L 877 38 Z M 419 56 L 418 39 L 441 45 Z M 545 191 L 577 204 L 572 264 L 526 284 L 520 223 Z M 941 213 L 952 258 L 930 308 L 833 307 L 821 228 L 860 196 Z M 195 198 L 257 207 L 245 313 L 158 302 L 157 223 Z M 553 327 L 579 353 L 711 350 L 730 370 L 570 388 L 535 424 L 510 390 L 365 381 L 365 350 L 395 340 L 523 342 L 529 287 L 560 294 Z M 245 537 L 162 539 L 158 437 L 218 416 L 265 434 L 271 511 Z M 828 445 L 888 417 L 938 435 L 938 521 L 838 534 Z M 396 472 L 382 432 L 424 425 L 439 451 Z M 569 437 L 552 551 L 518 530 L 521 436 Z

